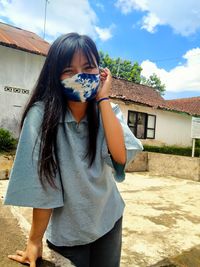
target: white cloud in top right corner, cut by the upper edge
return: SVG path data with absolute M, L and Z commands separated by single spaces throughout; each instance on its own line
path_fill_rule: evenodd
M 116 6 L 128 14 L 140 10 L 146 14 L 141 28 L 155 32 L 156 26 L 168 25 L 175 33 L 189 36 L 200 30 L 200 1 L 198 0 L 117 0 Z

